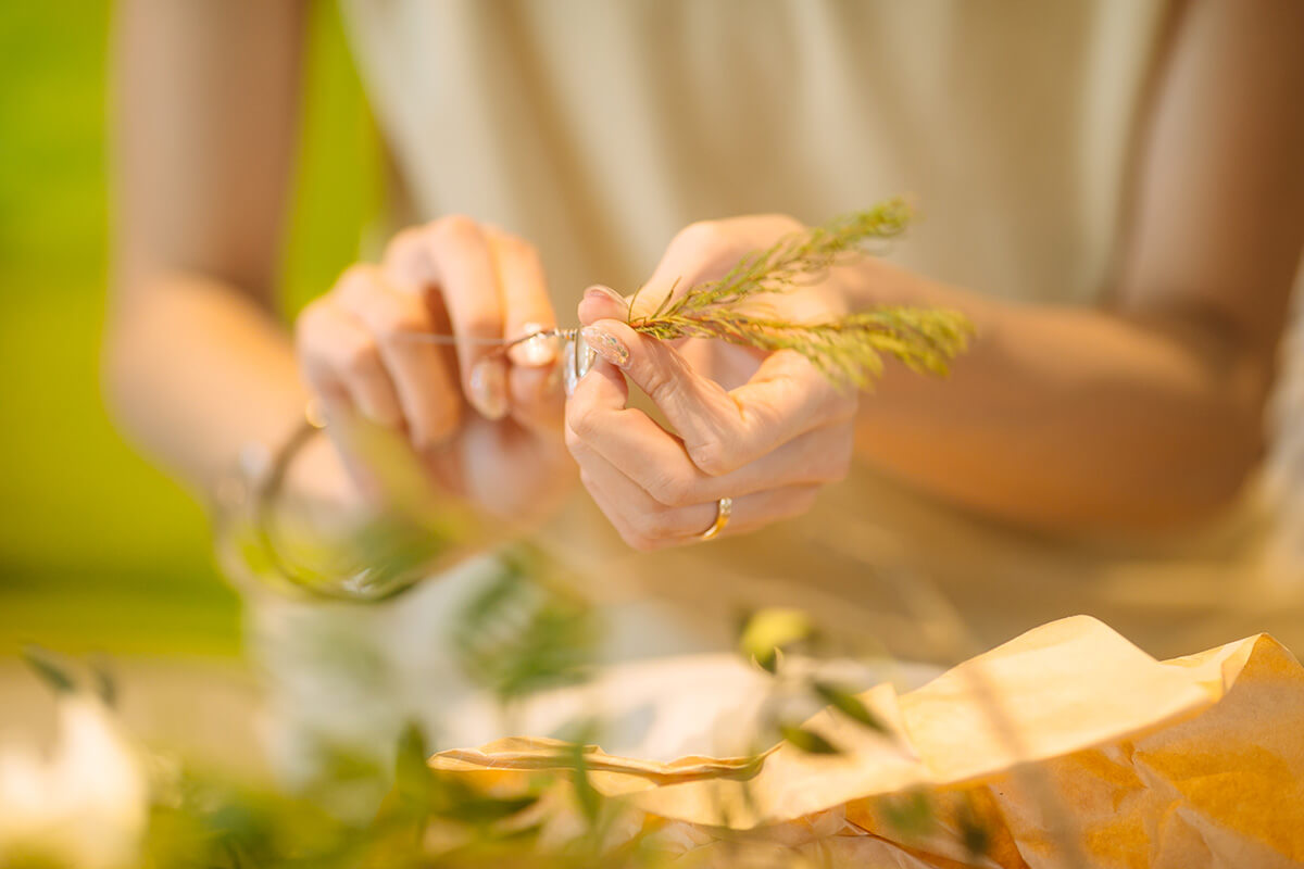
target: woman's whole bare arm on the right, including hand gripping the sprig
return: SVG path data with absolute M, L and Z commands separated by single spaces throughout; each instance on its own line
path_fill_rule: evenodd
M 1000 302 L 879 259 L 833 268 L 775 304 L 810 302 L 816 321 L 936 305 L 965 311 L 978 332 L 949 379 L 889 366 L 848 412 L 790 352 L 754 361 L 750 379 L 726 390 L 719 363 L 745 353 L 639 337 L 622 300 L 585 296 L 580 322 L 605 361 L 567 405 L 567 443 L 625 538 L 692 543 L 724 495 L 738 532 L 805 512 L 846 473 L 844 417 L 884 473 L 1025 526 L 1164 529 L 1231 502 L 1264 449 L 1304 241 L 1304 4 L 1192 0 L 1175 12 L 1104 305 Z M 720 278 L 794 228 L 781 215 L 694 224 L 645 288 L 657 298 Z M 690 358 L 690 348 L 707 352 Z M 627 380 L 673 433 L 627 405 Z

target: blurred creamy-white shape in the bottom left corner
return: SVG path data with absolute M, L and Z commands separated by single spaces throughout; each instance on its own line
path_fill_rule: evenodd
M 18 857 L 77 869 L 137 865 L 149 814 L 138 756 L 98 700 L 65 694 L 57 715 L 51 757 L 0 747 L 0 865 Z

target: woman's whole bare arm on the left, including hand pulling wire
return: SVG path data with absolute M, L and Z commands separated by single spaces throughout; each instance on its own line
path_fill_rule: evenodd
M 121 5 L 111 404 L 146 452 L 203 491 L 243 448 L 280 444 L 312 393 L 348 460 L 319 446 L 296 460 L 301 494 L 387 500 L 372 473 L 396 459 L 376 449 L 385 433 L 432 494 L 494 528 L 539 520 L 575 476 L 552 349 L 421 340 L 554 324 L 532 246 L 450 215 L 348 268 L 300 315 L 295 344 L 273 314 L 305 16 L 305 4 L 263 0 Z

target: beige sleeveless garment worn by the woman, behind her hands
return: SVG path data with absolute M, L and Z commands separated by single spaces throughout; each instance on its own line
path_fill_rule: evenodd
M 926 219 L 893 261 L 1012 300 L 1091 302 L 1167 18 L 1162 0 L 347 10 L 420 216 L 464 212 L 532 240 L 563 323 L 583 287 L 636 287 L 692 220 L 819 221 L 901 192 Z M 1144 551 L 1069 546 L 857 472 L 808 517 L 709 547 L 630 558 L 593 516 L 556 539 L 605 586 L 644 577 L 713 624 L 799 603 L 911 657 L 960 658 L 1074 612 L 1158 655 L 1256 631 L 1304 648 L 1304 616 L 1282 605 L 1294 591 L 1265 606 L 1252 588 L 1266 580 L 1245 567 L 1251 512 Z

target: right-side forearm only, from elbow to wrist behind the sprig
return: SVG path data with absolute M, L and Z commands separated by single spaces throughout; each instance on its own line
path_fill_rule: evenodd
M 1022 524 L 1137 528 L 1214 511 L 1258 457 L 1267 377 L 1230 336 L 870 268 L 878 298 L 958 307 L 978 330 L 948 379 L 889 370 L 862 400 L 862 452 L 893 476 Z

